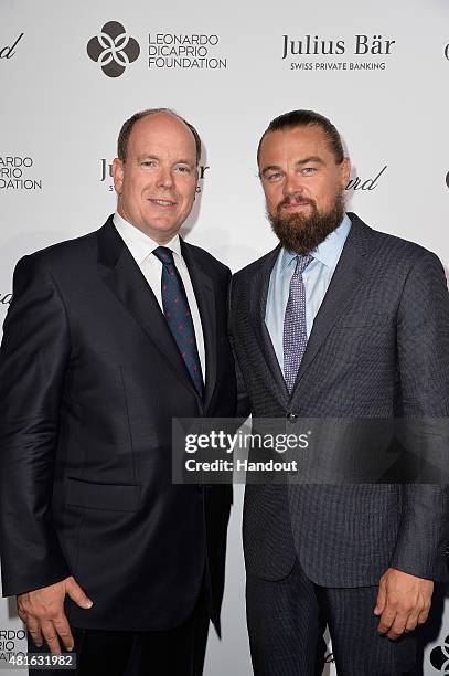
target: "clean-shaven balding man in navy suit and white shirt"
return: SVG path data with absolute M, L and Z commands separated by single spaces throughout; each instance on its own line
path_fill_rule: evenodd
M 76 674 L 202 673 L 218 627 L 231 487 L 171 484 L 172 418 L 232 416 L 229 271 L 183 242 L 201 141 L 128 119 L 117 212 L 23 257 L 0 355 L 4 595 Z M 133 674 L 137 672 L 135 670 Z

